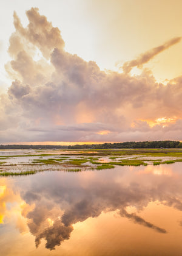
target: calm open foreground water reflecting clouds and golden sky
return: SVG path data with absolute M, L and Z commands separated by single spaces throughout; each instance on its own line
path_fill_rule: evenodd
M 181 255 L 182 163 L 0 178 L 1 256 Z

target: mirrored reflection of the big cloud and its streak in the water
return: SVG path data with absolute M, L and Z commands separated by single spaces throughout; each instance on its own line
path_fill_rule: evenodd
M 180 172 L 173 176 L 155 176 L 146 174 L 145 168 L 139 166 L 131 171 L 128 166 L 120 166 L 114 171 L 55 171 L 24 177 L 24 182 L 17 179 L 16 191 L 18 185 L 21 199 L 27 205 L 34 205 L 24 216 L 30 233 L 35 236 L 36 247 L 43 238 L 47 249 L 55 249 L 62 241 L 69 240 L 73 224 L 112 211 L 155 232 L 167 233 L 169 230 L 158 226 L 155 219 L 148 221 L 140 212 L 155 201 L 181 211 Z M 132 205 L 135 212 L 130 213 L 127 209 Z

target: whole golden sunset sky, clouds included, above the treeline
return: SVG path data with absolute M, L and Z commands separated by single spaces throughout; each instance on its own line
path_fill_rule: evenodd
M 178 0 L 0 3 L 0 143 L 182 141 Z

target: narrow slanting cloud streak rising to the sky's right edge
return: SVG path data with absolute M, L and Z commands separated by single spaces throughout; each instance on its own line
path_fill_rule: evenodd
M 173 46 L 174 44 L 177 44 L 180 41 L 181 41 L 181 37 L 172 38 L 166 43 L 161 44 L 160 46 L 157 46 L 155 48 L 152 48 L 150 51 L 144 52 L 144 54 L 141 54 L 135 60 L 130 60 L 129 62 L 125 62 L 123 64 L 124 73 L 129 73 L 132 70 L 132 68 L 134 68 L 134 66 L 137 66 L 137 68 L 140 68 L 143 64 L 153 59 L 153 57 L 155 57 L 157 54 L 165 51 L 166 49 L 170 48 L 170 46 Z

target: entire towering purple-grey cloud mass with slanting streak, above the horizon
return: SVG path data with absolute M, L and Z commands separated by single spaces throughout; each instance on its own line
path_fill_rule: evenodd
M 182 140 L 182 76 L 157 83 L 139 68 L 181 38 L 124 63 L 123 73 L 101 71 L 64 50 L 58 27 L 38 9 L 23 27 L 14 13 L 5 64 L 12 85 L 0 94 L 0 142 Z

